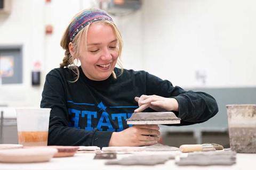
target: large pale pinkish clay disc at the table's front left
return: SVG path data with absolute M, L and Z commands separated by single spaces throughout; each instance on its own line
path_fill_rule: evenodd
M 31 163 L 47 162 L 55 153 L 55 148 L 21 148 L 0 150 L 0 162 L 6 163 Z

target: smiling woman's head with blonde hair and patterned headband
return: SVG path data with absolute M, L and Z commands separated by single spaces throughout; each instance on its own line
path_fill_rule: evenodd
M 113 70 L 121 56 L 122 43 L 121 34 L 108 14 L 84 10 L 75 16 L 62 37 L 60 44 L 66 52 L 60 67 L 70 66 L 77 59 L 83 62 L 83 73 L 91 80 L 105 80 L 111 73 L 116 78 Z M 121 62 L 119 66 L 122 68 Z M 70 69 L 77 74 L 77 81 L 79 70 L 76 66 Z

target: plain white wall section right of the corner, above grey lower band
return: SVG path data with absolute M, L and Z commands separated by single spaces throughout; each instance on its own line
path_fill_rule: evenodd
M 144 2 L 146 70 L 182 87 L 256 86 L 256 1 Z

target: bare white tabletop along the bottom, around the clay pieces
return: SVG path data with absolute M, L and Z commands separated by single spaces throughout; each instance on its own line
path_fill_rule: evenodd
M 232 166 L 177 166 L 174 159 L 170 159 L 165 164 L 155 166 L 123 166 L 105 165 L 106 159 L 93 159 L 95 154 L 78 153 L 74 157 L 52 158 L 50 162 L 44 163 L 0 163 L 0 169 L 69 169 L 69 170 L 98 170 L 98 169 L 256 169 L 256 154 L 237 154 L 237 162 Z M 118 154 L 117 158 L 130 156 L 129 154 Z

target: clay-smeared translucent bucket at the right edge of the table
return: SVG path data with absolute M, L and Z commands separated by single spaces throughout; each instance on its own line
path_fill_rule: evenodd
M 256 105 L 227 105 L 230 148 L 256 153 Z

